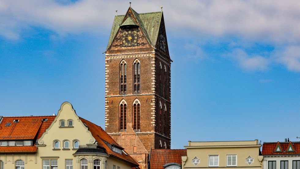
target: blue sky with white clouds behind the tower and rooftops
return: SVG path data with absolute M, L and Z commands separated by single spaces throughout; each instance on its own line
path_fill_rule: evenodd
M 187 141 L 299 141 L 300 3 L 132 1 L 163 6 L 171 59 L 171 148 Z M 0 1 L 0 115 L 69 101 L 104 127 L 104 54 L 127 1 Z

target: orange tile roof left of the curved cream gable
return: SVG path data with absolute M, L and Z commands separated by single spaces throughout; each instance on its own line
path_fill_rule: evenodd
M 22 116 L 2 117 L 0 123 L 0 141 L 6 140 L 33 140 L 40 138 L 43 132 L 51 125 L 56 116 Z M 13 123 L 14 119 L 19 122 Z M 42 119 L 47 119 L 43 121 Z M 11 123 L 10 126 L 5 126 Z M 33 146 L 0 146 L 0 153 L 36 152 L 37 147 Z

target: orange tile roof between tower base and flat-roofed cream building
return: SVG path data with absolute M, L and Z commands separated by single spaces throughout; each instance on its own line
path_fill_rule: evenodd
M 152 149 L 150 169 L 164 169 L 167 163 L 181 164 L 181 156 L 186 156 L 186 149 Z

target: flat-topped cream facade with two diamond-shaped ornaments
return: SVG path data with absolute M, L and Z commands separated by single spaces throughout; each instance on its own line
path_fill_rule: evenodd
M 259 154 L 260 147 L 258 140 L 189 141 L 188 146 L 185 146 L 187 156 L 182 156 L 182 169 L 211 167 L 262 169 L 263 156 Z

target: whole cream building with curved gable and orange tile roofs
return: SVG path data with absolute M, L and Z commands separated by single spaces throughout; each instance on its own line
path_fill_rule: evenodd
M 2 118 L 0 127 L 5 130 L 0 129 L 0 169 L 132 169 L 138 166 L 101 127 L 77 116 L 69 102 L 61 105 L 57 116 L 41 117 Z M 13 125 L 5 126 L 10 121 Z M 9 138 L 7 135 L 14 131 L 14 138 Z

